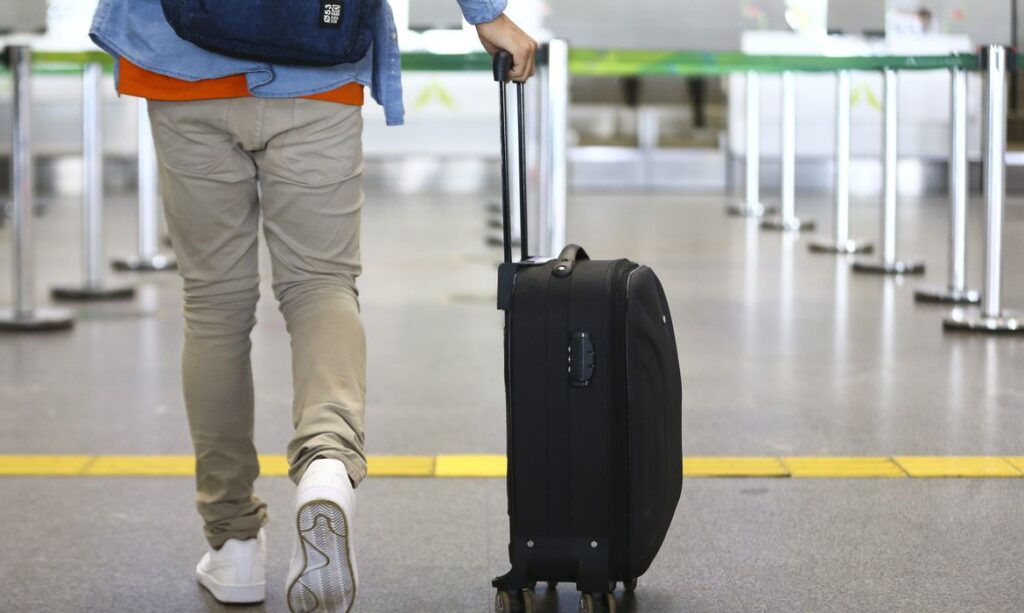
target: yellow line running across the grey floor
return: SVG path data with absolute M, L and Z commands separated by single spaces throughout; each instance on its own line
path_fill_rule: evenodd
M 288 475 L 284 455 L 260 455 L 260 473 Z M 690 478 L 1024 478 L 1024 456 L 687 456 Z M 502 478 L 504 455 L 373 455 L 371 477 Z M 0 455 L 0 477 L 188 477 L 191 455 Z

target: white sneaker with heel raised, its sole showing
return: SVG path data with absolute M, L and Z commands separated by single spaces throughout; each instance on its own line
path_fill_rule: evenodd
M 352 555 L 355 491 L 345 465 L 316 459 L 299 480 L 296 541 L 288 571 L 292 613 L 348 613 L 358 574 Z

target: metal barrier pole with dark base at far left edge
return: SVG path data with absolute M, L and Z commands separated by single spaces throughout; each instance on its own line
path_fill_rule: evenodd
M 35 195 L 32 169 L 32 49 L 27 46 L 14 46 L 8 47 L 6 53 L 14 80 L 11 130 L 14 306 L 0 309 L 0 331 L 67 330 L 74 323 L 69 313 L 35 306 L 35 253 L 32 240 Z

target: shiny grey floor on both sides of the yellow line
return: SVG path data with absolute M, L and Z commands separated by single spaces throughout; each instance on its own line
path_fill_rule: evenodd
M 372 192 L 361 302 L 370 341 L 368 450 L 504 450 L 500 253 L 485 199 Z M 913 290 L 945 281 L 942 199 L 901 206 L 901 248 L 923 278 L 857 274 L 807 236 L 729 218 L 720 195 L 578 194 L 570 238 L 595 258 L 654 268 L 682 352 L 684 444 L 694 455 L 1024 455 L 1024 339 L 943 333 Z M 40 298 L 78 278 L 78 212 L 36 224 Z M 828 231 L 827 199 L 801 200 Z M 854 206 L 876 233 L 873 201 Z M 981 203 L 972 203 L 971 283 Z M 130 251 L 131 202 L 109 207 L 109 252 Z M 1024 308 L 1024 207 L 1007 211 L 1006 301 Z M 0 270 L 9 270 L 9 228 Z M 8 273 L 0 304 L 9 304 Z M 114 275 L 112 274 L 112 278 Z M 0 337 L 0 453 L 188 453 L 178 379 L 180 284 L 74 307 L 70 334 Z M 975 286 L 976 287 L 976 286 Z M 290 428 L 288 341 L 268 287 L 254 332 L 257 444 Z M 0 610 L 214 611 L 193 583 L 203 541 L 189 479 L 0 479 Z M 290 483 L 271 503 L 284 577 Z M 1015 611 L 1022 500 L 1016 480 L 690 481 L 636 611 Z M 360 489 L 365 611 L 485 611 L 504 572 L 500 481 L 371 480 Z M 59 555 L 55 555 L 58 552 Z M 109 570 L 109 572 L 108 572 Z M 273 583 L 263 610 L 281 611 Z M 542 595 L 543 596 L 543 595 Z M 559 589 L 557 606 L 574 611 Z M 231 609 L 244 610 L 244 609 Z

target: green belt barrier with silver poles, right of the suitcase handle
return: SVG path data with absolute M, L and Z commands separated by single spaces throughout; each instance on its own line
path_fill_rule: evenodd
M 756 112 L 759 75 L 781 74 L 782 78 L 782 177 L 779 215 L 766 219 L 762 226 L 771 229 L 800 230 L 808 224 L 794 212 L 795 172 L 795 101 L 794 73 L 835 73 L 837 76 L 836 119 L 836 194 L 834 233 L 830 239 L 812 243 L 818 253 L 856 254 L 871 251 L 870 244 L 850 237 L 850 74 L 881 72 L 885 79 L 884 102 L 884 189 L 882 210 L 882 254 L 877 262 L 857 261 L 854 270 L 884 274 L 924 272 L 921 262 L 900 260 L 897 256 L 897 177 L 898 177 L 898 89 L 900 71 L 937 71 L 950 74 L 949 135 L 949 256 L 948 286 L 922 289 L 915 293 L 921 302 L 981 304 L 980 310 L 956 308 L 945 318 L 946 330 L 976 333 L 1024 334 L 1024 314 L 1002 305 L 1002 234 L 1006 206 L 1007 151 L 1007 72 L 1012 65 L 1012 51 L 1000 45 L 982 48 L 979 54 L 942 56 L 867 56 L 818 57 L 784 55 L 745 55 L 742 53 L 598 51 L 573 50 L 569 62 L 573 75 L 592 77 L 636 76 L 713 76 L 745 73 L 746 88 L 746 198 L 730 209 L 743 216 L 761 216 L 767 209 L 760 204 L 760 142 Z M 967 74 L 983 71 L 984 104 L 984 192 L 985 276 L 979 294 L 967 286 Z

